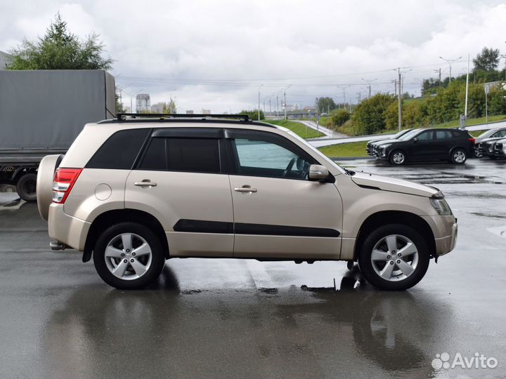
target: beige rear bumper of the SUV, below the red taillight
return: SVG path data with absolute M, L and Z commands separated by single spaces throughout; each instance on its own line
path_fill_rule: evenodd
M 56 239 L 56 241 L 76 250 L 84 251 L 84 244 L 90 227 L 91 222 L 67 215 L 63 211 L 63 204 L 53 203 L 49 206 L 49 237 Z

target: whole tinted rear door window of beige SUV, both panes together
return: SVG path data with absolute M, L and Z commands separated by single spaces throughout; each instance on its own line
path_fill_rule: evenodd
M 219 173 L 219 140 L 214 138 L 152 138 L 140 170 Z

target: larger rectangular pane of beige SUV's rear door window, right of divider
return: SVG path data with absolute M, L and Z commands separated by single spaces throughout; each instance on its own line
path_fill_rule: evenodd
M 170 171 L 219 173 L 219 140 L 167 138 L 167 158 L 167 168 Z

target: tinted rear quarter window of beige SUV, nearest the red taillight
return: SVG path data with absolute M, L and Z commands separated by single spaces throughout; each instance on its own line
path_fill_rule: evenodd
M 131 169 L 149 131 L 129 129 L 114 133 L 91 157 L 86 168 Z

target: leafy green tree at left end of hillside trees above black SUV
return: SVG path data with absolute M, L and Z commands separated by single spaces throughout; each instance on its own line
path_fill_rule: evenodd
M 395 96 L 387 93 L 377 93 L 363 100 L 355 108 L 351 118 L 356 134 L 373 134 L 383 131 L 386 127 L 385 112 L 395 101 Z

